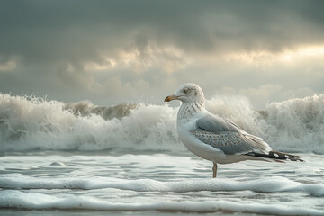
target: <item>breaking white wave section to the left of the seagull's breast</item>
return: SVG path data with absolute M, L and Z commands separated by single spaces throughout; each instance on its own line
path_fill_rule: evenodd
M 131 109 L 126 104 L 130 113 L 121 119 L 120 112 L 107 118 L 105 112 L 94 113 L 94 105 L 82 104 L 83 109 L 80 103 L 72 109 L 73 104 L 0 94 L 0 151 L 165 150 L 179 143 L 173 108 L 139 104 Z

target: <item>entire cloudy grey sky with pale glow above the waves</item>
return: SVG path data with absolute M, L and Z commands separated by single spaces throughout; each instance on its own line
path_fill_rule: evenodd
M 2 1 L 0 92 L 162 104 L 194 82 L 256 107 L 324 93 L 324 1 Z

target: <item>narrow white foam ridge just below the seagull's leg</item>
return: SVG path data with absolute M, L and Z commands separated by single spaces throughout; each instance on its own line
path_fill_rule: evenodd
M 197 191 L 253 191 L 259 193 L 307 193 L 324 197 L 324 184 L 302 184 L 284 177 L 263 178 L 252 181 L 230 179 L 188 180 L 161 182 L 151 179 L 125 180 L 108 177 L 43 178 L 24 175 L 0 176 L 0 187 L 22 189 L 103 189 L 114 188 L 136 192 L 197 192 Z

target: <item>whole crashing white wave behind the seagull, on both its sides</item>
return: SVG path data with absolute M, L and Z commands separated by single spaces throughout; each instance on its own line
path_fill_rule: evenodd
M 215 96 L 207 108 L 277 150 L 324 153 L 324 94 L 270 103 L 261 111 L 246 98 Z M 97 107 L 0 94 L 0 151 L 184 151 L 175 130 L 176 112 L 167 105 Z

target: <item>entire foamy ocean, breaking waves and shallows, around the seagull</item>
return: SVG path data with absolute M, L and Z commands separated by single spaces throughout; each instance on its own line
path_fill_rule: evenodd
M 0 215 L 324 215 L 324 94 L 209 111 L 306 162 L 220 165 L 176 133 L 178 107 L 0 94 Z

